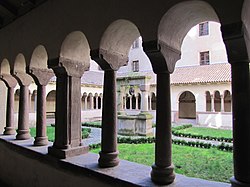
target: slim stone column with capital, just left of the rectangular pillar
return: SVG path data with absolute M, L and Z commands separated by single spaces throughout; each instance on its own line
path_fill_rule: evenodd
M 47 124 L 46 124 L 46 85 L 54 76 L 52 70 L 47 69 L 47 61 L 45 67 L 37 67 L 39 62 L 31 62 L 27 67 L 27 73 L 33 77 L 37 85 L 37 110 L 36 110 L 36 137 L 34 145 L 43 146 L 48 144 Z M 41 65 L 40 65 L 41 66 Z

